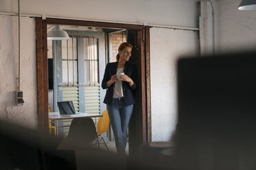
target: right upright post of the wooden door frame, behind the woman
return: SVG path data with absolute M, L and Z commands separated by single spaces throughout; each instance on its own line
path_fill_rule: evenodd
M 129 154 L 138 156 L 140 146 L 147 143 L 147 90 L 146 90 L 146 66 L 145 66 L 145 29 L 130 31 L 129 42 L 134 45 L 132 61 L 137 66 L 136 104 L 129 124 Z M 131 38 L 134 38 L 131 40 Z

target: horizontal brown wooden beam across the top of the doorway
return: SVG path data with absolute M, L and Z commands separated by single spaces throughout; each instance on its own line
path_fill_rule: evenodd
M 121 23 L 106 23 L 95 21 L 80 21 L 70 19 L 46 19 L 47 24 L 60 24 L 60 25 L 79 25 L 90 27 L 107 27 L 107 28 L 119 28 L 119 29 L 143 29 L 143 25 L 121 24 Z

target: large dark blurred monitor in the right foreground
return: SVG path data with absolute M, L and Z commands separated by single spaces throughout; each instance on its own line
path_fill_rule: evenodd
M 255 169 L 255 143 L 256 52 L 180 59 L 178 168 Z

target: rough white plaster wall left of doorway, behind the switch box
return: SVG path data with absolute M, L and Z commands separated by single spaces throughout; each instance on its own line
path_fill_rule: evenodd
M 37 127 L 35 21 L 21 17 L 21 90 L 17 106 L 18 17 L 0 16 L 0 119 Z

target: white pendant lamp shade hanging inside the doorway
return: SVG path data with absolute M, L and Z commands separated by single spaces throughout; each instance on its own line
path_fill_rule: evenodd
M 70 38 L 67 32 L 61 30 L 60 25 L 54 25 L 52 31 L 47 34 L 47 40 L 67 40 Z

